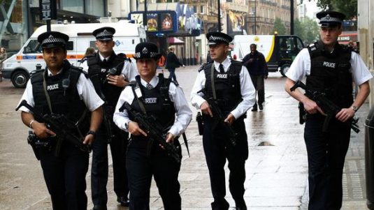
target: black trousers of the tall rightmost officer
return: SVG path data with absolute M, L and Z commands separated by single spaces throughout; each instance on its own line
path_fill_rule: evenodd
M 350 126 L 331 119 L 322 132 L 324 117 L 308 115 L 305 122 L 305 144 L 308 151 L 310 210 L 338 210 L 342 206 L 342 176 L 345 155 L 350 144 Z

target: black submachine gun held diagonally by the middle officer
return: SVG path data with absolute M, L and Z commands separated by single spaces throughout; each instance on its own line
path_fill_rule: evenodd
M 148 134 L 150 139 L 159 142 L 159 144 L 161 144 L 161 146 L 166 150 L 166 153 L 168 153 L 168 156 L 171 156 L 175 162 L 180 163 L 181 157 L 178 153 L 178 148 L 173 144 L 166 142 L 166 134 L 164 133 L 163 126 L 157 122 L 156 117 L 150 114 L 137 112 L 127 102 L 120 107 L 120 112 L 123 112 L 125 109 L 134 117 L 134 120 L 139 124 L 141 129 Z

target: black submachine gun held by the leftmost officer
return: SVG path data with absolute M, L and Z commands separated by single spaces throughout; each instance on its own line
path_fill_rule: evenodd
M 64 140 L 70 142 L 78 149 L 89 153 L 91 148 L 89 145 L 83 144 L 84 136 L 80 133 L 78 124 L 73 123 L 73 121 L 67 119 L 63 114 L 41 114 L 37 112 L 34 107 L 31 107 L 26 100 L 22 100 L 20 105 L 18 105 L 15 110 L 19 110 L 20 107 L 27 107 L 32 113 L 36 114 L 38 117 L 43 119 L 45 125 L 48 129 L 56 133 L 56 147 L 55 156 L 59 156 L 59 151 L 61 150 L 62 143 Z M 52 147 L 48 140 L 43 141 L 36 137 L 35 135 L 29 135 L 27 140 L 34 150 L 36 158 L 39 160 L 37 149 L 41 147 Z

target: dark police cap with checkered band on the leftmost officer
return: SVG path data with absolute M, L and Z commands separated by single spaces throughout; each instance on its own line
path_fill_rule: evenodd
M 47 31 L 38 36 L 41 47 L 65 47 L 68 40 L 69 36 L 58 31 Z

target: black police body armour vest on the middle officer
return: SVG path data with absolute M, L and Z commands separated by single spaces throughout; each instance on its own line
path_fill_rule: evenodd
M 170 100 L 168 96 L 168 89 L 171 83 L 171 80 L 164 78 L 162 74 L 159 75 L 159 83 L 153 89 L 146 89 L 141 85 L 141 77 L 137 75 L 136 82 L 138 87 L 141 89 L 142 97 L 135 97 L 131 103 L 131 107 L 136 110 L 136 112 L 143 113 L 141 107 L 139 106 L 138 100 L 142 100 L 142 103 L 145 107 L 145 111 L 149 115 L 156 117 L 157 121 L 164 126 L 164 131 L 173 126 L 175 121 L 175 107 L 174 103 Z M 135 94 L 136 84 L 131 84 L 133 93 Z M 134 95 L 135 96 L 135 95 Z M 129 116 L 129 119 L 134 121 L 133 116 Z M 137 138 L 138 136 L 132 136 L 131 138 Z M 141 137 L 143 138 L 143 137 Z

